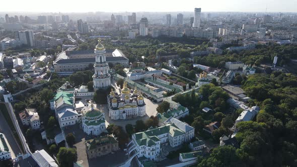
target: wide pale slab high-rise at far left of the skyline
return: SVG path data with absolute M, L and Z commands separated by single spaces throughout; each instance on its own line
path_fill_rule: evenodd
M 33 46 L 34 33 L 32 30 L 15 31 L 14 34 L 15 34 L 16 40 L 19 40 L 21 44 Z

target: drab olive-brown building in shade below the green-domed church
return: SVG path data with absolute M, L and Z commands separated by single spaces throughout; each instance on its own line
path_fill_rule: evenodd
M 119 143 L 113 134 L 85 141 L 88 158 L 96 158 L 119 150 Z

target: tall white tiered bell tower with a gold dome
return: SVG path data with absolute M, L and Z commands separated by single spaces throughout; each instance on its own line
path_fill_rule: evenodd
M 95 48 L 95 73 L 93 75 L 94 91 L 97 91 L 100 88 L 107 88 L 111 84 L 111 75 L 109 74 L 109 66 L 106 62 L 105 54 L 105 48 L 99 39 Z

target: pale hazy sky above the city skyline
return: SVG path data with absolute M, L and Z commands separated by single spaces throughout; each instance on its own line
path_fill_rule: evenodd
M 44 3 L 43 3 L 44 2 Z M 297 0 L 3 0 L 1 12 L 297 12 Z

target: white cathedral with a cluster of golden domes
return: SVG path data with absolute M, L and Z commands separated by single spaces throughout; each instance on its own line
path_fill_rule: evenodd
M 108 96 L 109 117 L 118 120 L 144 116 L 145 103 L 137 88 L 131 91 L 125 81 L 121 92 L 122 94 L 118 95 L 111 90 Z

